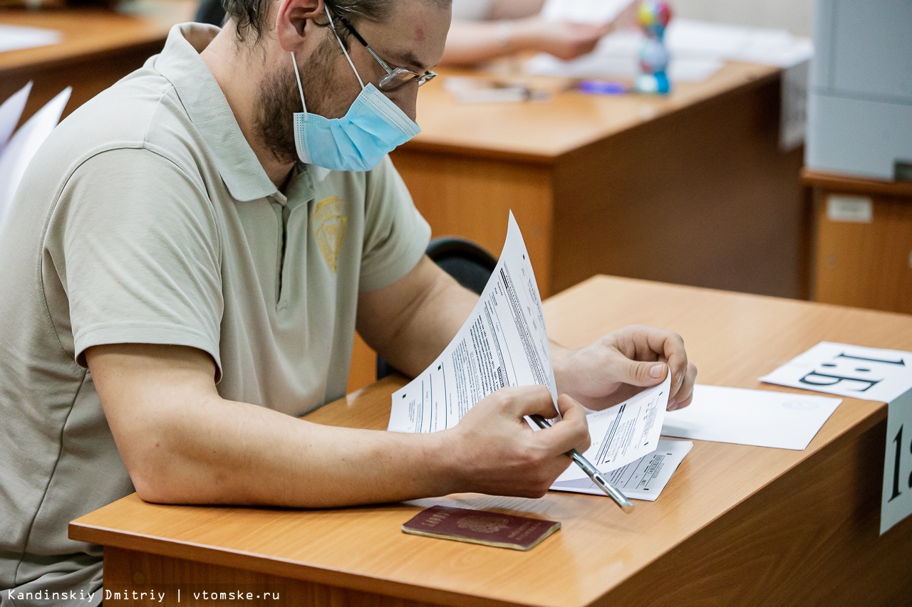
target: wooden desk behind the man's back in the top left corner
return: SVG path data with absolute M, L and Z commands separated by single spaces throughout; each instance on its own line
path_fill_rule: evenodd
M 29 80 L 35 85 L 25 120 L 66 87 L 73 87 L 64 116 L 161 52 L 176 23 L 192 21 L 192 0 L 140 0 L 119 11 L 101 8 L 0 9 L 0 24 L 54 29 L 59 44 L 0 53 L 0 100 Z

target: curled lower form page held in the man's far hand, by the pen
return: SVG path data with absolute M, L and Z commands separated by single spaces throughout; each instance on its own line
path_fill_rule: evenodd
M 583 457 L 599 472 L 610 472 L 655 451 L 670 388 L 669 373 L 658 386 L 643 390 L 618 405 L 586 414 L 592 444 Z M 578 466 L 571 466 L 555 482 L 578 478 L 588 477 Z

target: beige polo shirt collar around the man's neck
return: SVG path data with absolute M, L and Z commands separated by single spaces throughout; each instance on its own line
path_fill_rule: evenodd
M 171 27 L 164 50 L 155 58 L 154 68 L 174 86 L 234 199 L 267 198 L 278 189 L 244 138 L 222 88 L 200 57 L 202 49 L 218 33 L 218 27 L 201 24 Z

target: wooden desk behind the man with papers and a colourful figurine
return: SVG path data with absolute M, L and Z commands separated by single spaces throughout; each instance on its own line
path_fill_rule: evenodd
M 728 63 L 668 98 L 486 104 L 457 103 L 448 73 L 421 88 L 422 132 L 391 155 L 435 235 L 497 256 L 513 209 L 543 296 L 596 273 L 804 295 L 803 150 L 779 149 L 782 70 Z

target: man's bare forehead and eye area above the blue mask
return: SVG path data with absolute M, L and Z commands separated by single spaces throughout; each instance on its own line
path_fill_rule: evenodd
M 437 65 L 450 29 L 450 3 L 400 0 L 394 6 L 386 23 L 362 20 L 358 31 L 397 67 L 428 69 Z

